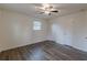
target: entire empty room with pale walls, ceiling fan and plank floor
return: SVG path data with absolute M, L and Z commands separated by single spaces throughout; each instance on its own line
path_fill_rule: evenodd
M 0 61 L 87 61 L 87 4 L 0 3 Z

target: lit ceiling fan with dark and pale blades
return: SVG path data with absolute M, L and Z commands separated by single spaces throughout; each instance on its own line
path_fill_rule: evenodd
M 40 10 L 40 14 L 45 13 L 51 15 L 52 13 L 57 13 L 58 10 L 55 9 L 53 6 L 48 4 L 48 3 L 44 3 L 42 4 L 42 7 L 36 7 L 36 9 Z

